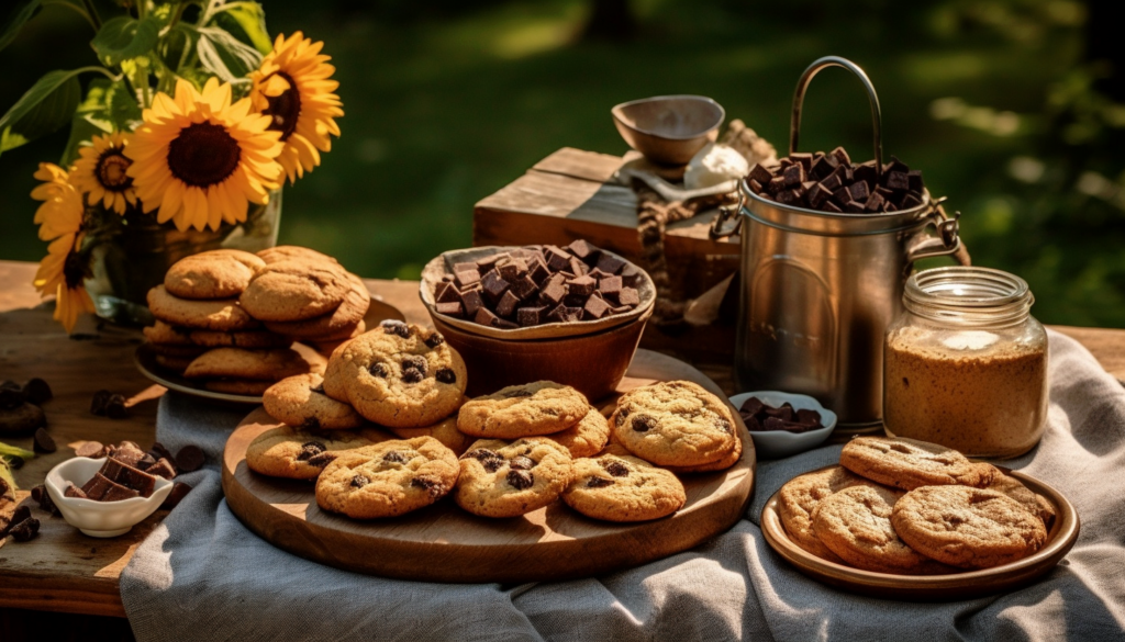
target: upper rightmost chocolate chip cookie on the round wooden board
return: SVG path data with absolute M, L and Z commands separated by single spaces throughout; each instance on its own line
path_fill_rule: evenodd
M 730 454 L 738 440 L 727 404 L 691 381 L 630 390 L 610 419 L 618 442 L 659 465 L 696 467 Z

